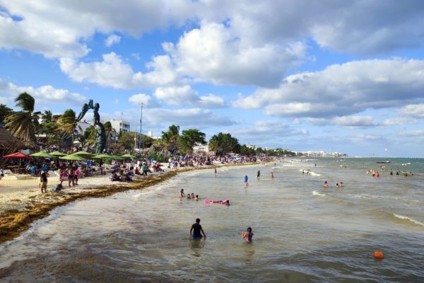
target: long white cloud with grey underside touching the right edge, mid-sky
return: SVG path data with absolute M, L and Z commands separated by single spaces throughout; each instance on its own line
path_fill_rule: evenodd
M 423 97 L 423 69 L 424 61 L 413 59 L 335 64 L 288 76 L 278 88 L 258 88 L 251 96 L 239 96 L 233 106 L 264 108 L 268 115 L 283 117 L 337 117 L 399 107 Z

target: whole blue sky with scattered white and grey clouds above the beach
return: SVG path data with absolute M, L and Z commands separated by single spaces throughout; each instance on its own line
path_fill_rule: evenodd
M 143 103 L 143 134 L 424 156 L 423 48 L 420 0 L 0 0 L 0 103 L 93 99 L 136 132 Z

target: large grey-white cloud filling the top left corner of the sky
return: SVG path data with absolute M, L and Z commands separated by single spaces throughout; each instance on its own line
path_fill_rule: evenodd
M 96 32 L 139 37 L 155 28 L 182 25 L 193 14 L 188 0 L 101 5 L 97 1 L 0 0 L 0 6 L 5 10 L 0 14 L 0 47 L 23 48 L 45 57 L 83 57 L 89 52 L 85 41 Z

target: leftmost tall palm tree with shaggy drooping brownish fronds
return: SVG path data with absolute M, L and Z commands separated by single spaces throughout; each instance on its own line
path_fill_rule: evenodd
M 13 112 L 6 118 L 6 127 L 11 133 L 23 141 L 35 141 L 35 133 L 40 123 L 40 112 L 34 112 L 35 100 L 28 93 L 20 93 L 15 98 L 16 106 L 21 111 Z

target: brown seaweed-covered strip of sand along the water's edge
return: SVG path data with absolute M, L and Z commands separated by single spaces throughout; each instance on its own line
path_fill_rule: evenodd
M 114 183 L 110 185 L 103 184 L 92 188 L 87 188 L 87 185 L 84 185 L 81 186 L 81 188 L 78 187 L 78 192 L 73 192 L 73 189 L 65 189 L 65 191 L 40 194 L 40 192 L 38 192 L 39 189 L 34 189 L 37 192 L 28 195 L 27 200 L 8 200 L 11 202 L 16 202 L 16 206 L 21 207 L 21 209 L 4 209 L 0 212 L 0 244 L 13 240 L 14 238 L 18 237 L 20 233 L 27 231 L 34 221 L 49 216 L 53 209 L 64 206 L 71 202 L 86 200 L 88 197 L 108 197 L 110 195 L 114 195 L 117 192 L 143 189 L 145 187 L 150 187 L 152 185 L 162 183 L 165 180 L 169 180 L 179 173 L 229 166 L 252 165 L 259 165 L 259 163 L 223 164 L 207 167 L 204 166 L 199 168 L 179 168 L 177 170 L 167 170 L 163 173 L 153 173 L 147 178 L 136 179 L 133 183 Z M 29 192 L 35 191 L 31 190 Z M 5 192 L 4 194 L 8 193 L 10 192 Z M 16 194 L 16 192 L 12 192 L 11 194 Z M 34 200 L 35 198 L 37 198 L 37 200 Z

